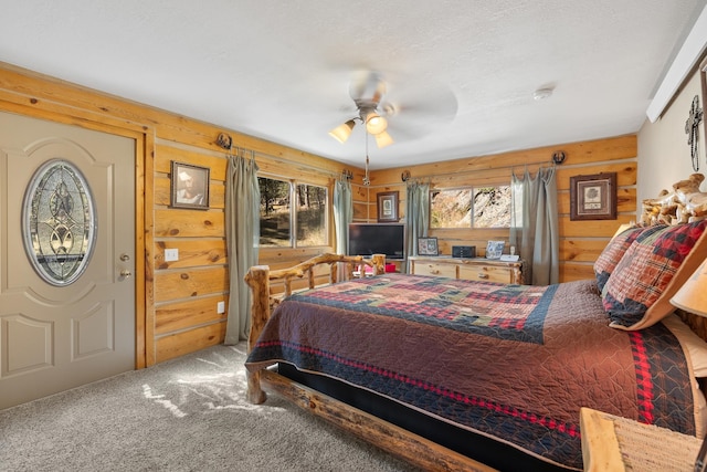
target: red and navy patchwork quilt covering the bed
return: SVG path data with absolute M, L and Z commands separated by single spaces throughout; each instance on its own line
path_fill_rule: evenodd
M 287 298 L 246 367 L 289 363 L 579 470 L 580 407 L 695 433 L 676 338 L 608 324 L 594 281 L 386 274 Z

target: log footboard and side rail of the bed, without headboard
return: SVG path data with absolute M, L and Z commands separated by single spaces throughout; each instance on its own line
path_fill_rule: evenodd
M 372 268 L 373 275 L 384 272 L 386 256 L 373 254 L 370 260 L 362 256 L 321 254 L 305 261 L 292 269 L 271 271 L 267 265 L 251 268 L 245 282 L 251 289 L 252 324 L 247 340 L 247 350 L 257 342 L 265 323 L 270 318 L 271 310 L 293 292 L 292 282 L 307 277 L 308 287 L 314 289 L 318 266 L 329 266 L 329 282 L 338 280 L 339 268 L 346 268 L 345 280 L 365 274 L 365 268 Z M 319 268 L 320 269 L 320 268 Z M 284 292 L 273 294 L 271 283 L 283 283 Z M 429 439 L 414 434 L 403 428 L 381 420 L 370 413 L 346 405 L 309 387 L 297 384 L 277 373 L 263 369 L 247 373 L 247 400 L 262 403 L 266 395 L 262 387 L 267 387 L 304 410 L 324 418 L 330 423 L 354 433 L 362 440 L 388 451 L 389 453 L 429 471 L 493 471 L 473 459 L 456 451 L 444 448 Z

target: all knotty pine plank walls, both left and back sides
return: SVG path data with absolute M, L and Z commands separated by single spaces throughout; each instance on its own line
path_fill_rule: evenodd
M 238 106 L 238 104 L 233 104 Z M 215 144 L 221 133 L 234 146 L 254 151 L 260 174 L 327 186 L 345 166 L 319 156 L 257 139 L 235 130 L 149 107 L 0 63 L 0 109 L 59 123 L 136 137 L 136 248 L 145 253 L 136 270 L 137 366 L 145 367 L 223 342 L 224 316 L 217 303 L 229 302 L 228 253 L 224 232 L 225 151 Z M 409 168 L 413 178 L 431 178 L 436 186 L 464 182 L 506 183 L 510 169 L 546 164 L 558 147 L 509 153 Z M 568 155 L 559 171 L 562 234 L 562 277 L 585 276 L 608 238 L 620 222 L 635 218 L 636 144 L 634 136 L 562 146 Z M 169 207 L 170 162 L 211 169 L 210 208 L 205 211 Z M 371 186 L 362 186 L 363 169 L 354 172 L 355 218 L 376 221 L 376 193 L 400 191 L 400 216 L 404 217 L 405 168 L 371 172 Z M 460 169 L 462 169 L 460 171 Z M 616 170 L 620 174 L 620 220 L 570 222 L 569 176 Z M 562 183 L 563 182 L 563 183 Z M 452 244 L 483 245 L 507 232 L 439 232 L 441 249 Z M 334 229 L 330 228 L 330 241 Z M 331 243 L 334 244 L 334 242 Z M 581 249 L 580 249 L 581 247 Z M 165 249 L 178 249 L 179 261 L 165 262 Z M 260 263 L 273 269 L 294 265 L 334 248 L 264 249 Z M 138 253 L 139 253 L 138 252 Z

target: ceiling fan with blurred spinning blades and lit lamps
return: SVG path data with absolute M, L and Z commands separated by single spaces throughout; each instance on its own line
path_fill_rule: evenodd
M 391 128 L 398 138 L 418 138 L 456 116 L 457 102 L 452 91 L 424 74 L 403 77 L 392 88 L 389 93 L 380 73 L 359 71 L 349 84 L 358 116 L 331 129 L 329 135 L 345 143 L 359 122 L 382 148 L 393 144 Z

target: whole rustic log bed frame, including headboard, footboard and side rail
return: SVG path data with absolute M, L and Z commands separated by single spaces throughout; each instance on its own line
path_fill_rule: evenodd
M 700 178 L 701 177 L 701 178 Z M 693 175 L 689 179 L 675 183 L 673 192 L 664 190 L 657 199 L 643 201 L 642 223 L 682 223 L 707 218 L 707 193 L 699 192 L 695 186 L 704 180 L 701 175 Z M 686 191 L 685 189 L 688 188 Z M 271 271 L 267 265 L 251 268 L 245 281 L 251 287 L 252 325 L 249 337 L 249 352 L 257 342 L 271 310 L 282 297 L 292 293 L 292 282 L 307 276 L 308 287 L 315 287 L 317 266 L 329 265 L 329 283 L 335 283 L 340 264 L 346 268 L 345 277 L 350 280 L 358 272 L 366 276 L 365 266 L 372 268 L 373 275 L 384 272 L 386 256 L 374 254 L 371 260 L 361 256 L 323 254 L 303 262 L 292 269 Z M 284 284 L 284 291 L 273 294 L 271 283 Z M 676 313 L 697 335 L 707 340 L 707 318 L 677 310 Z M 274 370 L 263 369 L 247 374 L 247 399 L 252 403 L 262 403 L 266 395 L 262 385 L 279 394 L 298 407 L 326 419 L 327 421 L 352 432 L 391 454 L 430 471 L 492 471 L 488 468 L 456 451 L 440 445 L 419 434 L 384 421 L 368 412 L 354 408 L 317 390 L 298 384 Z M 701 390 L 707 395 L 707 386 Z

